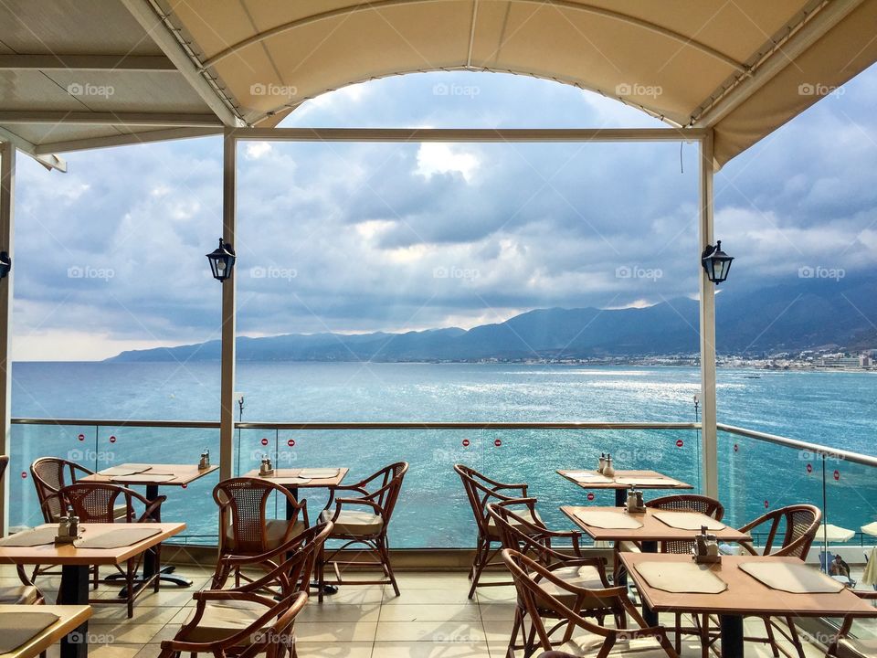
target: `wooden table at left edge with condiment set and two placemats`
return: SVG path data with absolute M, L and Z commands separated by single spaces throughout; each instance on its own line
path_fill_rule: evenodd
M 62 546 L 43 544 L 35 547 L 0 546 L 0 564 L 60 566 L 61 586 L 58 590 L 58 602 L 61 605 L 88 605 L 90 567 L 120 566 L 132 557 L 139 556 L 148 549 L 161 544 L 165 539 L 185 530 L 183 523 L 150 524 L 150 526 L 153 525 L 160 528 L 161 532 L 126 547 L 77 548 L 72 544 Z M 55 524 L 37 525 L 37 527 L 50 526 L 57 527 Z M 83 536 L 90 537 L 97 536 L 100 532 L 118 530 L 121 526 L 122 524 L 80 525 Z M 146 555 L 143 559 L 144 562 L 153 562 L 154 574 L 155 556 Z M 88 630 L 87 621 L 82 621 L 76 627 L 76 631 L 82 634 L 87 633 Z M 81 642 L 71 642 L 69 635 L 61 640 L 61 658 L 84 658 L 86 653 L 86 646 Z

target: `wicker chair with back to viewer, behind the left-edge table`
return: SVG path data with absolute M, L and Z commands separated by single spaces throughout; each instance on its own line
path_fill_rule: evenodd
M 162 503 L 167 499 L 166 496 L 158 496 L 150 501 L 142 493 L 137 493 L 132 489 L 118 486 L 110 483 L 75 483 L 69 484 L 58 492 L 58 502 L 62 508 L 72 508 L 73 513 L 79 516 L 80 523 L 129 523 L 129 524 L 145 524 L 154 523 L 161 518 Z M 138 513 L 134 504 L 143 505 L 143 512 Z M 124 514 L 119 517 L 119 510 L 123 509 Z M 153 548 L 149 548 L 137 557 L 132 557 L 125 562 L 125 568 L 117 567 L 119 573 L 122 574 L 122 580 L 125 583 L 122 597 L 128 606 L 129 619 L 134 614 L 134 600 L 137 595 L 153 585 L 154 591 L 159 588 L 160 573 L 156 571 L 149 581 L 138 582 L 135 587 L 137 570 L 140 568 L 146 553 L 151 554 L 155 564 L 161 563 L 162 545 L 158 544 Z M 92 600 L 92 602 L 109 603 L 114 602 L 112 599 Z

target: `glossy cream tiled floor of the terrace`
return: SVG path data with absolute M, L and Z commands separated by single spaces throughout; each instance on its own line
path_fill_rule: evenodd
M 7 568 L 4 568 L 7 569 Z M 203 587 L 208 573 L 198 568 L 179 571 Z M 494 577 L 496 578 L 496 577 Z M 0 580 L 16 582 L 8 570 Z M 512 587 L 481 588 L 468 600 L 469 584 L 463 573 L 409 572 L 398 575 L 402 595 L 381 586 L 344 587 L 318 604 L 308 603 L 296 622 L 298 653 L 329 658 L 497 658 L 505 655 L 512 626 Z M 57 578 L 39 585 L 49 600 Z M 100 597 L 118 591 L 100 586 Z M 192 605 L 193 589 L 163 589 L 144 594 L 128 620 L 124 606 L 99 606 L 90 621 L 90 656 L 94 658 L 154 658 L 162 640 L 174 637 Z M 763 628 L 760 629 L 763 631 Z M 760 633 L 759 633 L 760 634 Z M 823 653 L 807 647 L 808 658 Z M 49 651 L 57 658 L 58 649 Z M 683 655 L 700 656 L 687 642 Z M 749 644 L 746 656 L 769 656 L 766 647 Z

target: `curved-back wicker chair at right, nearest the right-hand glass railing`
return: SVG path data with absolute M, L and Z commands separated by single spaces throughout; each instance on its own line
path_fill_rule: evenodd
M 822 520 L 822 512 L 819 507 L 810 504 L 794 504 L 787 507 L 781 507 L 772 510 L 766 515 L 759 516 L 755 521 L 744 525 L 740 528 L 740 532 L 750 533 L 756 528 L 766 527 L 767 538 L 764 547 L 758 551 L 751 542 L 743 542 L 740 544 L 743 549 L 750 555 L 766 555 L 766 556 L 792 556 L 804 559 L 813 544 L 813 539 L 819 530 L 819 522 Z M 761 534 L 761 533 L 759 533 Z M 775 544 L 778 546 L 775 547 Z M 801 646 L 798 637 L 798 629 L 791 617 L 786 617 L 785 621 L 788 626 L 789 633 L 786 634 L 770 617 L 762 618 L 765 622 L 767 637 L 746 637 L 748 642 L 763 642 L 770 645 L 774 656 L 779 655 L 779 647 L 774 630 L 781 633 L 798 652 L 798 658 L 805 658 L 804 647 Z

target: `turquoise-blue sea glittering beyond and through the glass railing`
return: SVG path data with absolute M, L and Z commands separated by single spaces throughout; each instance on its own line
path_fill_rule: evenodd
M 276 421 L 643 421 L 699 419 L 697 368 L 542 364 L 240 363 L 239 418 Z M 126 420 L 216 420 L 217 363 L 16 363 L 16 418 L 112 419 L 100 427 L 16 424 L 12 433 L 11 522 L 41 522 L 28 471 L 44 455 L 92 470 L 123 462 L 195 463 L 218 430 L 132 428 Z M 877 454 L 877 373 L 720 368 L 719 421 L 792 439 Z M 407 461 L 403 493 L 390 528 L 393 547 L 469 547 L 475 529 L 460 480 L 462 462 L 492 478 L 528 483 L 550 525 L 569 527 L 562 504 L 612 504 L 556 474 L 592 469 L 601 452 L 617 469 L 667 473 L 702 487 L 697 430 L 240 430 L 236 472 L 263 454 L 282 468 L 348 467 L 353 483 L 392 462 Z M 877 520 L 872 468 L 822 462 L 806 450 L 720 432 L 719 489 L 734 525 L 784 504 L 810 502 L 829 523 L 858 531 Z M 212 473 L 185 489 L 165 486 L 163 517 L 184 520 L 185 540 L 217 536 Z M 647 493 L 647 498 L 660 493 Z M 327 494 L 302 489 L 314 519 Z M 280 504 L 269 514 L 282 515 Z M 868 537 L 855 536 L 860 543 Z

